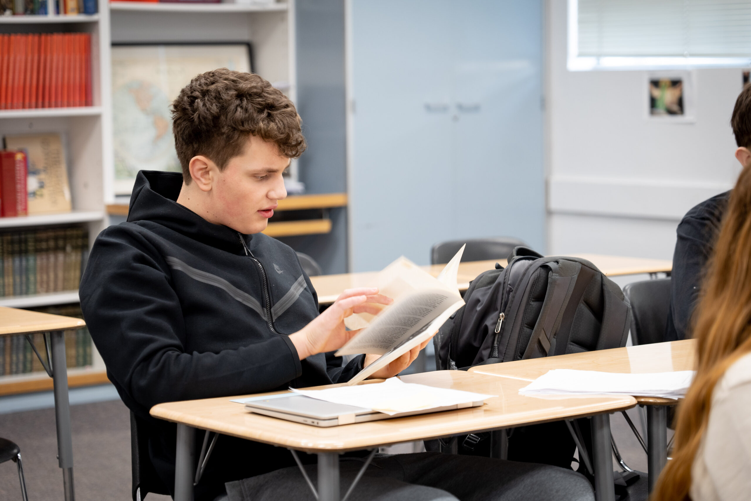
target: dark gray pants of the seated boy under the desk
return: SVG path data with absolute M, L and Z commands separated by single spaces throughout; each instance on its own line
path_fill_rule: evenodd
M 342 459 L 339 466 L 342 495 L 363 462 Z M 317 466 L 306 466 L 315 484 Z M 228 482 L 230 501 L 314 499 L 300 469 L 274 472 Z M 517 463 L 489 457 L 421 452 L 376 454 L 351 501 L 592 501 L 592 486 L 569 469 Z

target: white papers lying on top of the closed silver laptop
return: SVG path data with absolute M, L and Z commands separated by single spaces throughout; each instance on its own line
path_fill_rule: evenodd
M 386 379 L 382 383 L 339 386 L 338 388 L 327 388 L 325 390 L 290 389 L 295 393 L 317 398 L 318 400 L 342 403 L 347 406 L 364 407 L 384 412 L 388 415 L 445 406 L 458 405 L 461 407 L 463 404 L 469 407 L 472 406 L 472 402 L 479 402 L 496 396 L 405 383 L 399 378 Z

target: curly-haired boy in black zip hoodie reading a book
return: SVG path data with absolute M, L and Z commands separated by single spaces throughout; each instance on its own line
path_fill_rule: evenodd
M 282 171 L 306 146 L 282 92 L 255 74 L 209 71 L 182 89 L 172 116 L 182 175 L 138 174 L 128 222 L 101 232 L 80 287 L 107 374 L 146 423 L 170 489 L 176 427 L 151 418 L 153 405 L 345 382 L 377 357 L 342 367 L 331 352 L 357 333 L 343 319 L 391 302 L 353 289 L 318 315 L 294 251 L 260 233 L 286 196 Z M 373 377 L 397 375 L 418 352 Z M 554 466 L 434 453 L 373 463 L 351 499 L 592 499 L 584 477 Z M 343 462 L 342 480 L 359 466 Z M 232 501 L 312 499 L 289 451 L 230 436 L 195 499 L 223 496 L 225 482 Z

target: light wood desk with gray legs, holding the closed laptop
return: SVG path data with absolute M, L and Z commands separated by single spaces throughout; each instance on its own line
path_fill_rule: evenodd
M 635 406 L 633 397 L 604 395 L 556 400 L 524 397 L 519 395 L 519 388 L 526 385 L 526 381 L 463 371 L 412 374 L 402 379 L 498 397 L 486 400 L 481 407 L 330 428 L 247 412 L 242 404 L 230 401 L 238 397 L 162 403 L 152 407 L 151 415 L 178 425 L 174 499 L 192 499 L 196 428 L 318 454 L 319 499 L 338 501 L 338 455 L 342 452 L 584 416 L 593 416 L 593 430 L 596 430 L 593 432 L 595 463 L 599 465 L 596 466 L 596 485 L 604 486 L 596 489 L 597 499 L 614 499 L 608 412 Z

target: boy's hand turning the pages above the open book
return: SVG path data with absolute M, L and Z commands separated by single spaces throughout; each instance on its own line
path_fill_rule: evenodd
M 290 334 L 289 339 L 297 349 L 300 360 L 316 353 L 331 352 L 339 349 L 360 330 L 346 330 L 344 319 L 352 313 L 371 313 L 381 311 L 377 304 L 391 304 L 394 300 L 378 293 L 378 288 L 351 288 L 342 292 L 336 301 L 321 315 L 301 330 Z M 393 362 L 392 362 L 393 364 Z

